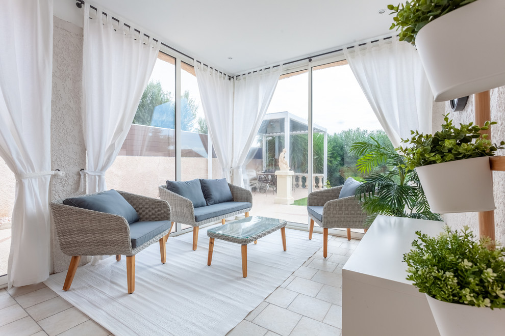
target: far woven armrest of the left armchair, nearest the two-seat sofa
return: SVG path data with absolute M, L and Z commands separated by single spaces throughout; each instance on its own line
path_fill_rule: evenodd
M 170 220 L 170 206 L 166 201 L 118 191 L 139 214 L 139 220 Z

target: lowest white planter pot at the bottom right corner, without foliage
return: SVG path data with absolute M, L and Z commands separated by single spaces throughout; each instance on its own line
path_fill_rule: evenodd
M 502 335 L 505 309 L 443 302 L 426 295 L 440 336 Z

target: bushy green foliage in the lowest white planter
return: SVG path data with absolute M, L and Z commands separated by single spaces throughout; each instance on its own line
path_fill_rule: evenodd
M 488 249 L 468 227 L 449 227 L 438 237 L 416 232 L 414 247 L 403 255 L 407 279 L 419 292 L 445 302 L 505 308 L 505 248 Z

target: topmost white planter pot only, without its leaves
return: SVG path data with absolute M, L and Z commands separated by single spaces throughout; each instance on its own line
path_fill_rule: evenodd
M 435 101 L 505 85 L 505 1 L 477 0 L 426 24 L 416 47 Z

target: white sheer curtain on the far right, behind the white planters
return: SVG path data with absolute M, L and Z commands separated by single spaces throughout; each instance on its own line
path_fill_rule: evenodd
M 433 95 L 414 46 L 393 36 L 344 54 L 393 146 L 411 130 L 432 132 Z

